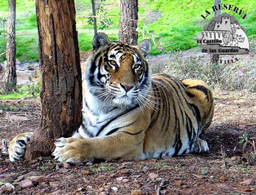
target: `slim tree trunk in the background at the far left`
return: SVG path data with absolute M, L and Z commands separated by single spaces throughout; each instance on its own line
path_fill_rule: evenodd
M 5 90 L 10 92 L 15 89 L 17 83 L 16 76 L 16 45 L 15 45 L 15 11 L 16 0 L 8 1 L 8 20 L 6 31 L 6 75 L 5 75 Z

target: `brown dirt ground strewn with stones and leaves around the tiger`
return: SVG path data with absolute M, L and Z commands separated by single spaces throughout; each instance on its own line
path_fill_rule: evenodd
M 237 145 L 244 133 L 256 141 L 256 94 L 216 90 L 215 96 L 206 154 L 67 164 L 51 158 L 11 163 L 1 152 L 0 194 L 256 194 L 253 148 L 247 145 L 243 152 Z M 38 98 L 1 100 L 0 105 L 1 139 L 39 127 Z

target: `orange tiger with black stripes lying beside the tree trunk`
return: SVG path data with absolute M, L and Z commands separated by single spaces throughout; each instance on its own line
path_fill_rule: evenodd
M 202 139 L 214 114 L 210 87 L 195 78 L 152 75 L 150 40 L 109 41 L 98 32 L 83 81 L 83 122 L 70 138 L 56 140 L 57 161 L 138 161 L 207 152 Z M 21 160 L 33 133 L 13 138 L 10 161 Z

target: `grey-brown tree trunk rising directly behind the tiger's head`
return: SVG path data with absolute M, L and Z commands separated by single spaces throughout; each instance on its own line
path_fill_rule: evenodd
M 119 41 L 137 45 L 138 32 L 138 0 L 121 0 Z

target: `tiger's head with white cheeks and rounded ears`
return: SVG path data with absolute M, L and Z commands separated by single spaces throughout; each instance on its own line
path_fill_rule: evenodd
M 86 69 L 86 85 L 104 104 L 121 108 L 143 105 L 150 89 L 150 69 L 145 59 L 151 43 L 138 45 L 109 41 L 104 33 L 93 38 L 93 55 Z

